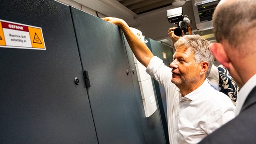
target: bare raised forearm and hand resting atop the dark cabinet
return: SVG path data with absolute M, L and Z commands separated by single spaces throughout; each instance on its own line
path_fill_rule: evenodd
M 142 40 L 133 34 L 133 31 L 130 30 L 128 24 L 119 18 L 106 17 L 102 19 L 119 26 L 123 30 L 123 33 L 133 51 L 133 54 L 139 62 L 147 67 L 154 55 L 151 53 L 150 49 L 148 49 L 148 47 L 142 42 Z

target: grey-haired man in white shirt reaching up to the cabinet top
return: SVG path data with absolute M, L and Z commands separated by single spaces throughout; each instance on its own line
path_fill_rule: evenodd
M 118 25 L 146 72 L 164 86 L 170 144 L 197 144 L 234 117 L 234 105 L 206 80 L 213 64 L 209 42 L 187 35 L 175 43 L 174 61 L 166 67 L 119 18 L 102 18 Z

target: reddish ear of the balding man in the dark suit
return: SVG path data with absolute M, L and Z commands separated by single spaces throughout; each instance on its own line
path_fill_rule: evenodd
M 223 45 L 220 43 L 212 43 L 210 44 L 210 50 L 214 57 L 216 58 L 216 60 L 224 67 L 229 69 L 230 60 L 224 50 Z

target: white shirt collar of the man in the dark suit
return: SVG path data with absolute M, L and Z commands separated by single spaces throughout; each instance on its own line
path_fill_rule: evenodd
M 251 90 L 256 86 L 256 74 L 252 76 L 240 89 L 238 93 L 238 98 L 237 98 L 237 105 L 236 105 L 236 110 L 235 110 L 235 115 L 238 116 L 242 109 L 242 105 L 247 98 L 248 94 L 251 92 Z

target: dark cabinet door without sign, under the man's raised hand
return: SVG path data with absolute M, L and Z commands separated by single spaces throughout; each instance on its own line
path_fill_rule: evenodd
M 71 12 L 99 143 L 144 144 L 122 31 L 78 9 Z

